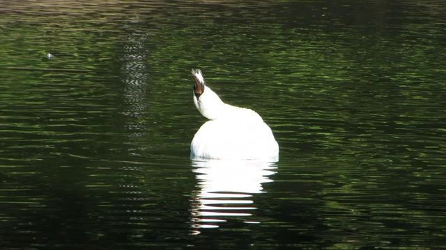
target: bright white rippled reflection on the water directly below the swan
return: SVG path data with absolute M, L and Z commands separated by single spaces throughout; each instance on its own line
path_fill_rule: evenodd
M 192 166 L 199 188 L 190 209 L 193 233 L 199 233 L 197 228 L 219 227 L 219 223 L 233 217 L 246 217 L 245 223 L 259 223 L 247 218 L 256 209 L 252 197 L 266 192 L 262 183 L 272 182 L 275 163 L 206 160 L 193 161 Z

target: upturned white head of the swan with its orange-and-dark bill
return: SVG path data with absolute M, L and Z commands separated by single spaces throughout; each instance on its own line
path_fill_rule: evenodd
M 217 119 L 224 112 L 225 104 L 220 97 L 215 94 L 204 80 L 200 69 L 192 69 L 195 78 L 194 103 L 201 115 L 208 119 Z

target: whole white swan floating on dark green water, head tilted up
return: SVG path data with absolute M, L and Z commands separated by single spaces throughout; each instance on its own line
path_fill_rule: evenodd
M 200 69 L 195 78 L 193 99 L 201 115 L 208 118 L 194 135 L 190 157 L 198 159 L 266 160 L 279 159 L 279 145 L 271 128 L 259 114 L 248 108 L 224 103 L 211 90 Z

